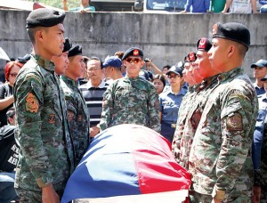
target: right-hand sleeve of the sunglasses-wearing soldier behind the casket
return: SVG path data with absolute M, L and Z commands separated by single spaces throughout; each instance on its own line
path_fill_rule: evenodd
M 152 86 L 150 88 L 150 93 L 148 98 L 150 128 L 160 133 L 160 120 L 158 116 L 158 109 L 159 109 L 158 93 L 156 91 L 156 88 Z

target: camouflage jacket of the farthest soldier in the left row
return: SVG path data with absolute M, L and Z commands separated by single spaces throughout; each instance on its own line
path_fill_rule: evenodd
M 65 94 L 77 165 L 89 146 L 89 110 L 76 81 L 61 76 L 61 87 Z

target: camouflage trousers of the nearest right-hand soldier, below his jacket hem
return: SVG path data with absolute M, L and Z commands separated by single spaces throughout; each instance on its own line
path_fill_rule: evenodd
M 200 194 L 196 191 L 190 194 L 190 203 L 211 203 L 213 200 L 211 195 Z M 232 202 L 232 203 L 251 203 L 251 198 L 249 197 L 239 197 L 236 199 L 223 200 L 222 202 Z

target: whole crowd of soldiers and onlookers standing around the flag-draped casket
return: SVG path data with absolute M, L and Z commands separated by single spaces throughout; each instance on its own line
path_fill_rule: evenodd
M 250 45 L 246 26 L 215 23 L 212 40 L 201 37 L 196 52 L 159 69 L 138 47 L 103 62 L 85 57 L 64 38 L 64 19 L 46 8 L 30 12 L 33 51 L 6 63 L 0 200 L 60 202 L 93 137 L 121 124 L 166 138 L 191 174 L 191 202 L 267 200 L 267 61 L 251 65 L 253 84 L 241 68 Z

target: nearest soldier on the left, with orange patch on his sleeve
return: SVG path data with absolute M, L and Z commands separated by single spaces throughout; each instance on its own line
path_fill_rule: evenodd
M 53 55 L 64 43 L 64 12 L 41 8 L 30 12 L 28 36 L 34 48 L 14 85 L 20 143 L 15 189 L 20 202 L 60 202 L 74 169 L 67 108 Z

